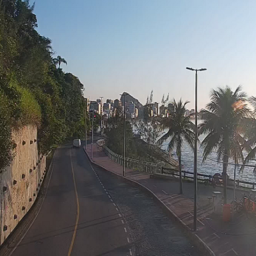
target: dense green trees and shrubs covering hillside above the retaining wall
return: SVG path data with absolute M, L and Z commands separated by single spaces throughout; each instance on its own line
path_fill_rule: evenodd
M 52 58 L 29 1 L 0 0 L 0 170 L 15 156 L 13 129 L 38 127 L 40 153 L 84 134 L 83 84 Z M 56 67 L 56 65 L 58 67 Z

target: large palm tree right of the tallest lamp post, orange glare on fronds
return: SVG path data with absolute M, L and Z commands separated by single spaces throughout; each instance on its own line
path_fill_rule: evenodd
M 243 161 L 244 138 L 242 124 L 248 115 L 246 93 L 238 86 L 235 92 L 226 86 L 212 90 L 211 102 L 202 109 L 204 122 L 199 125 L 198 135 L 207 134 L 202 141 L 204 147 L 203 162 L 216 150 L 218 161 L 223 161 L 223 196 L 227 204 L 227 163 L 232 158 Z

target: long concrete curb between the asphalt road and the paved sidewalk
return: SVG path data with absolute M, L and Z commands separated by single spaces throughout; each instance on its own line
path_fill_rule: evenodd
M 132 186 L 135 186 L 137 188 L 140 188 L 141 191 L 147 193 L 147 195 L 152 196 L 152 198 L 154 199 L 154 201 L 157 203 L 157 205 L 159 205 L 161 207 L 161 209 L 163 209 L 164 213 L 167 214 L 167 216 L 175 221 L 177 224 L 179 224 L 179 226 L 184 230 L 184 232 L 186 233 L 186 235 L 189 237 L 189 239 L 196 245 L 196 247 L 198 248 L 198 250 L 200 250 L 200 252 L 202 253 L 202 255 L 207 255 L 207 256 L 216 256 L 215 253 L 211 250 L 211 248 L 204 242 L 202 241 L 202 239 L 195 233 L 192 232 L 192 230 L 182 221 L 180 220 L 180 218 L 175 214 L 175 212 L 173 212 L 171 209 L 169 209 L 167 207 L 166 204 L 164 204 L 164 202 L 162 202 L 157 195 L 152 192 L 150 189 L 148 189 L 147 187 L 143 186 L 142 184 L 140 184 L 139 182 L 136 182 L 135 180 L 129 179 L 127 177 L 123 177 L 122 175 L 112 172 L 106 168 L 104 168 L 103 166 L 101 166 L 100 164 L 95 163 L 94 161 L 92 161 L 92 159 L 90 159 L 90 157 L 88 156 L 88 153 L 86 152 L 85 148 L 83 147 L 84 153 L 86 154 L 86 157 L 88 157 L 89 161 L 92 164 L 95 164 L 96 166 L 99 166 L 100 168 L 108 171 L 109 173 L 111 173 L 111 175 L 117 177 L 117 179 L 120 179 L 128 184 L 131 184 Z

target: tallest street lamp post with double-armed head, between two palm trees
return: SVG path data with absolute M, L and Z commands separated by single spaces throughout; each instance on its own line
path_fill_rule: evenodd
M 186 68 L 191 71 L 196 72 L 196 84 L 195 84 L 195 145 L 194 145 L 194 231 L 197 230 L 197 140 L 198 140 L 198 132 L 197 132 L 197 72 L 204 71 L 206 68 Z

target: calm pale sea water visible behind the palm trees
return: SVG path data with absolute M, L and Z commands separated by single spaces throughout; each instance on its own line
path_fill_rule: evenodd
M 200 124 L 200 122 L 202 122 L 202 120 L 198 120 L 198 124 Z M 204 136 L 200 136 L 199 140 L 202 141 L 204 140 L 205 135 Z M 168 143 L 170 140 L 167 140 L 164 142 L 162 148 L 164 150 L 167 150 L 168 147 Z M 198 147 L 198 173 L 205 173 L 205 174 L 211 174 L 214 175 L 214 173 L 222 172 L 222 164 L 221 163 L 216 163 L 212 160 L 217 159 L 216 157 L 216 153 L 212 152 L 211 156 L 209 156 L 209 159 L 207 159 L 204 163 L 202 163 L 202 156 L 203 156 L 203 152 L 204 149 L 202 147 Z M 173 157 L 175 159 L 177 159 L 177 156 L 175 154 L 175 152 L 173 152 Z M 212 159 L 212 160 L 210 160 Z M 184 170 L 188 171 L 188 172 L 193 172 L 193 163 L 194 163 L 194 153 L 193 150 L 191 150 L 191 148 L 189 147 L 189 145 L 187 143 L 184 143 L 183 147 L 182 147 L 182 166 L 184 168 Z M 232 163 L 232 161 L 230 161 L 230 163 Z M 254 162 L 256 163 L 256 162 Z M 230 176 L 230 178 L 234 177 L 234 165 L 229 165 L 228 166 L 228 175 Z M 236 172 L 236 179 L 239 180 L 246 180 L 246 181 L 250 181 L 250 182 L 256 182 L 256 177 L 253 174 L 253 167 L 245 167 L 243 173 L 239 173 L 238 171 Z

